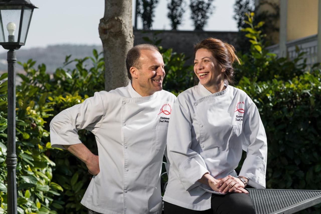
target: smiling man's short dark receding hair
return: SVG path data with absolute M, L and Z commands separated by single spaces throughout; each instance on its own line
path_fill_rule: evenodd
M 155 50 L 159 52 L 159 49 L 152 44 L 141 44 L 141 45 L 135 45 L 133 48 L 131 48 L 126 57 L 126 67 L 127 67 L 127 75 L 130 80 L 132 80 L 132 75 L 130 74 L 129 69 L 131 67 L 136 67 L 137 69 L 140 69 L 140 51 L 141 50 Z

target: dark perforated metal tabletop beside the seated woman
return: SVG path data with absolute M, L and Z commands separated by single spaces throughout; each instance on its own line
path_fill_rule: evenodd
M 247 190 L 256 214 L 295 213 L 321 202 L 318 190 Z

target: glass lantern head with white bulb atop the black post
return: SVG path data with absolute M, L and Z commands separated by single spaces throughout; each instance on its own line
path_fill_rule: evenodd
M 17 50 L 26 43 L 32 12 L 30 0 L 0 0 L 0 45 Z

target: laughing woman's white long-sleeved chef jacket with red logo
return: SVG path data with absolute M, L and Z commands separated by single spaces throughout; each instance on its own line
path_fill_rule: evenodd
M 267 143 L 259 112 L 245 92 L 229 86 L 215 94 L 198 84 L 179 94 L 171 115 L 167 155 L 169 182 L 164 201 L 191 209 L 211 208 L 209 186 L 197 182 L 205 173 L 214 178 L 237 176 L 265 188 Z

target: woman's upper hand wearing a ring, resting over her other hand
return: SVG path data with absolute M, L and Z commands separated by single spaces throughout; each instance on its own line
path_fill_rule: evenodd
M 248 193 L 247 190 L 244 189 L 244 183 L 236 177 L 231 175 L 226 176 L 225 178 L 220 179 L 220 182 L 216 184 L 216 188 L 218 188 L 218 192 L 239 192 L 239 193 Z

